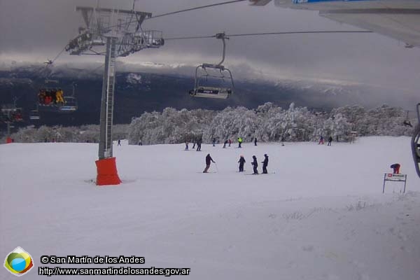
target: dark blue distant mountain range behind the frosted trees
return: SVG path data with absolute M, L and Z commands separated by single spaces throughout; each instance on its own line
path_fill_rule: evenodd
M 99 123 L 102 94 L 102 73 L 64 65 L 46 69 L 39 65 L 1 67 L 0 104 L 13 103 L 23 109 L 25 123 L 22 125 L 83 125 Z M 255 108 L 265 102 L 273 102 L 287 108 L 291 102 L 328 111 L 333 107 L 360 104 L 366 107 L 379 106 L 384 102 L 393 105 L 391 92 L 366 85 L 337 84 L 328 81 L 315 83 L 304 80 L 268 80 L 263 77 L 235 80 L 235 92 L 229 99 L 193 98 L 188 91 L 193 89 L 195 69 L 190 66 L 144 65 L 143 68 L 118 65 L 116 76 L 114 123 L 130 123 L 144 111 L 175 109 L 222 110 L 227 106 Z M 176 74 L 174 74 L 176 73 Z M 187 76 L 190 73 L 191 76 Z M 71 94 L 71 84 L 76 83 L 78 111 L 59 114 L 41 112 L 41 120 L 30 121 L 29 111 L 36 109 L 38 90 L 45 87 L 45 76 L 59 80 L 64 95 Z M 235 72 L 234 72 L 235 78 Z M 384 102 L 378 102 L 378 96 Z M 35 123 L 34 123 L 35 122 Z

